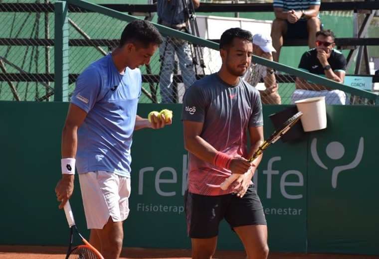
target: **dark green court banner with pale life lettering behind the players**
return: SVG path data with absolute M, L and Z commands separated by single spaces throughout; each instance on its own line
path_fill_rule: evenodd
M 189 248 L 182 106 L 159 106 L 139 107 L 141 116 L 172 109 L 174 123 L 135 132 L 124 246 Z M 268 115 L 286 107 L 263 107 L 266 136 L 273 130 Z M 0 102 L 1 245 L 67 242 L 66 219 L 54 193 L 61 177 L 60 135 L 67 108 L 60 102 Z M 278 141 L 265 151 L 254 181 L 272 252 L 379 255 L 379 123 L 372 120 L 378 113 L 379 107 L 372 106 L 327 106 L 327 129 L 307 133 L 295 143 Z M 77 225 L 85 229 L 77 178 L 71 203 Z M 225 223 L 218 248 L 243 249 Z

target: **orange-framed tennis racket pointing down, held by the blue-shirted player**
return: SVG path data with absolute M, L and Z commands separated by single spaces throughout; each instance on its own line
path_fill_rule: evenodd
M 64 205 L 64 213 L 66 214 L 68 226 L 70 227 L 70 244 L 68 245 L 66 259 L 104 259 L 103 256 L 97 251 L 83 236 L 79 233 L 72 214 L 70 202 L 67 201 Z M 73 247 L 74 232 L 80 237 L 84 245 Z

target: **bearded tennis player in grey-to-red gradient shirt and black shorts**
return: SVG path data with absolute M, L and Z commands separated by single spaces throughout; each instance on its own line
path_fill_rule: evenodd
M 189 151 L 185 205 L 194 259 L 212 258 L 223 219 L 241 239 L 247 258 L 268 256 L 266 219 L 251 181 L 262 157 L 253 164 L 247 160 L 263 142 L 262 103 L 258 90 L 240 78 L 252 53 L 249 31 L 226 30 L 220 39 L 220 70 L 196 81 L 183 98 Z M 220 184 L 231 173 L 239 177 L 222 190 Z

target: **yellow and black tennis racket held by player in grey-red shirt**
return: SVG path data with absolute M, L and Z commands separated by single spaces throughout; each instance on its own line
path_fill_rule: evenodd
M 291 129 L 299 120 L 300 117 L 303 115 L 302 112 L 298 112 L 294 116 L 292 116 L 290 119 L 288 119 L 285 123 L 283 123 L 282 127 L 278 130 L 276 130 L 274 133 L 271 134 L 269 138 L 267 138 L 255 151 L 253 156 L 249 159 L 249 162 L 254 161 L 255 158 L 257 158 L 260 154 L 263 153 L 263 150 L 265 150 L 269 145 L 272 143 L 275 143 L 282 135 L 284 135 L 289 129 Z M 229 185 L 235 181 L 240 176 L 240 174 L 232 174 L 230 175 L 223 183 L 220 184 L 220 188 L 222 190 L 227 190 Z

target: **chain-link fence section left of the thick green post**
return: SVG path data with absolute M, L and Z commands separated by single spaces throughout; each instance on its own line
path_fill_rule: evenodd
M 1 1 L 0 100 L 49 100 L 54 84 L 54 13 L 37 1 Z M 16 4 L 15 4 L 16 3 Z

